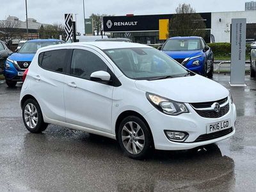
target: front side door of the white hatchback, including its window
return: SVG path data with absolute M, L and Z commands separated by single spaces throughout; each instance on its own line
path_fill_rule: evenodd
M 92 81 L 90 75 L 113 68 L 99 52 L 84 48 L 73 50 L 69 70 L 64 87 L 67 123 L 111 133 L 113 86 Z

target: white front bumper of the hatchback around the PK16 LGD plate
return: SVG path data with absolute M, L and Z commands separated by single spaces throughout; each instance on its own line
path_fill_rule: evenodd
M 177 116 L 165 115 L 161 111 L 154 109 L 144 115 L 147 120 L 148 125 L 152 131 L 152 136 L 154 139 L 154 145 L 156 149 L 159 150 L 186 150 L 190 148 L 199 147 L 202 145 L 208 145 L 211 143 L 216 143 L 221 140 L 225 140 L 232 136 L 235 132 L 235 122 L 236 122 L 236 106 L 235 104 L 229 104 L 230 109 L 228 113 L 220 118 L 203 118 L 198 115 L 196 111 L 189 105 L 186 104 L 189 113 L 183 113 Z M 221 122 L 223 120 L 230 119 L 232 132 L 226 134 L 225 136 L 220 136 L 219 138 L 214 138 L 212 140 L 195 142 L 196 139 L 206 134 L 206 125 L 214 122 Z M 164 134 L 164 130 L 188 132 L 189 136 L 184 142 L 170 141 Z

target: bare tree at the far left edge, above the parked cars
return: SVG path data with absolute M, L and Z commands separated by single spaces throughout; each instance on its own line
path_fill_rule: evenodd
M 18 19 L 0 20 L 0 38 L 6 43 L 13 40 L 13 38 L 17 38 L 21 35 L 19 27 L 20 20 Z

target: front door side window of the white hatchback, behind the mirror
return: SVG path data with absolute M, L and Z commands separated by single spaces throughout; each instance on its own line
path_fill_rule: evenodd
M 108 66 L 99 56 L 90 51 L 74 49 L 70 68 L 72 76 L 90 80 L 91 74 L 98 70 L 108 70 Z

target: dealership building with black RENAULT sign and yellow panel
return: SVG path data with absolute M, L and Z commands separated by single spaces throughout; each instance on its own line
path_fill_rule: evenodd
M 205 22 L 204 39 L 207 43 L 230 42 L 231 20 L 236 18 L 246 18 L 246 39 L 256 40 L 256 11 L 199 14 Z M 113 38 L 125 37 L 132 42 L 158 44 L 166 40 L 166 33 L 169 31 L 166 26 L 172 16 L 173 14 L 104 17 L 104 32 L 111 33 Z

